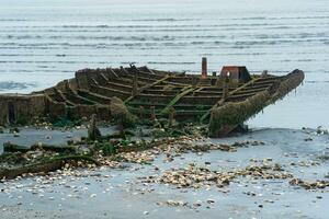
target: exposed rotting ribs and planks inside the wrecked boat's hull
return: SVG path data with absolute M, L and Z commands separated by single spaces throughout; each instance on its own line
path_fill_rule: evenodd
M 303 73 L 299 70 L 294 72 L 297 71 Z M 186 74 L 135 66 L 116 69 L 83 69 L 76 72 L 76 78 L 38 92 L 44 99 L 44 104 L 39 104 L 38 113 L 35 115 L 34 112 L 29 112 L 26 116 L 27 113 L 24 113 L 25 108 L 22 106 L 27 105 L 31 108 L 30 106 L 35 105 L 41 99 L 33 101 L 33 95 L 25 95 L 24 99 L 0 95 L 0 125 L 8 123 L 9 115 L 14 115 L 11 116 L 14 117 L 12 123 L 22 117 L 24 119 L 50 115 L 81 118 L 90 117 L 92 114 L 98 114 L 98 117 L 103 120 L 110 120 L 111 114 L 106 108 L 111 104 L 111 99 L 115 96 L 123 100 L 127 108 L 137 116 L 140 114 L 139 106 L 144 106 L 145 117 L 168 118 L 168 113 L 173 107 L 177 120 L 207 122 L 212 108 L 226 103 L 242 103 L 268 89 L 275 90 L 286 77 L 291 76 L 256 76 L 245 82 L 248 73 L 245 70 L 243 80 L 236 80 L 228 89 L 223 89 L 224 78 L 220 76 L 202 78 L 200 73 Z M 12 103 L 10 111 L 9 103 Z M 149 111 L 150 106 L 155 107 Z

